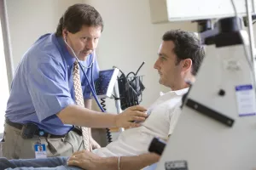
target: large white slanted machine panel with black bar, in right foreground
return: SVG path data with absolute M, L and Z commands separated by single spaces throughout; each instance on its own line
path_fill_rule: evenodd
M 244 48 L 208 46 L 188 99 L 235 120 L 225 126 L 200 112 L 183 107 L 157 170 L 173 170 L 170 161 L 186 161 L 183 170 L 254 170 L 256 168 L 256 116 L 239 116 L 236 86 L 253 84 Z M 224 96 L 218 90 L 224 89 Z M 254 90 L 254 87 L 253 87 Z M 253 93 L 255 99 L 255 95 Z M 255 104 L 255 102 L 254 102 Z M 179 163 L 180 165 L 180 163 Z

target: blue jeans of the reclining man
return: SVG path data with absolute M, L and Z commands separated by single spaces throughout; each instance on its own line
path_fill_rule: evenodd
M 7 160 L 0 158 L 0 169 L 7 170 L 81 170 L 67 166 L 68 157 L 49 157 L 44 159 Z

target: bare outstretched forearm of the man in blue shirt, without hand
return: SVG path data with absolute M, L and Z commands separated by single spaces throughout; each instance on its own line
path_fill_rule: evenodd
M 116 115 L 91 111 L 79 105 L 68 105 L 57 116 L 64 124 L 81 127 L 115 127 Z

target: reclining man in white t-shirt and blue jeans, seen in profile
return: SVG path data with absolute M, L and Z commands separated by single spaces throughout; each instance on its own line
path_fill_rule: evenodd
M 125 130 L 119 135 L 119 139 L 113 143 L 104 148 L 93 150 L 94 154 L 85 150 L 74 153 L 68 159 L 68 165 L 87 170 L 130 170 L 142 169 L 159 160 L 159 156 L 148 153 L 148 146 L 154 137 L 167 140 L 172 134 L 181 112 L 182 96 L 189 89 L 185 79 L 195 78 L 205 55 L 201 42 L 194 33 L 180 30 L 167 31 L 162 40 L 154 69 L 160 74 L 160 84 L 170 88 L 171 91 L 162 94 L 148 108 L 150 115 L 141 127 Z M 36 162 L 37 166 L 56 167 L 60 166 L 66 159 L 55 157 Z M 33 160 L 27 161 L 27 164 L 24 162 L 12 160 L 8 163 L 13 166 L 23 165 L 23 167 L 34 165 L 32 164 Z M 56 169 L 66 169 L 66 166 Z

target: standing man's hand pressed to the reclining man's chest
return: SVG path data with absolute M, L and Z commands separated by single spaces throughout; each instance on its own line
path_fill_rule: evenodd
M 115 118 L 116 127 L 139 127 L 147 118 L 147 109 L 143 106 L 135 105 L 127 108 Z

